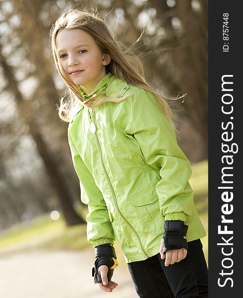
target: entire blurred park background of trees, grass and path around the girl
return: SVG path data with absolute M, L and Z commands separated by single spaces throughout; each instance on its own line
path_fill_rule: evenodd
M 93 285 L 87 208 L 57 114 L 65 85 L 49 32 L 72 7 L 98 9 L 166 96 L 208 231 L 208 1 L 0 0 L 0 297 L 103 297 Z M 202 239 L 208 258 L 207 237 Z M 136 297 L 119 244 L 114 297 Z M 14 287 L 13 287 L 14 285 Z

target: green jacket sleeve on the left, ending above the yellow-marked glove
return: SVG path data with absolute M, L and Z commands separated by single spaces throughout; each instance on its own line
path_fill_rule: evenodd
M 68 143 L 74 168 L 80 180 L 81 201 L 88 205 L 88 215 L 86 216 L 88 242 L 94 247 L 106 243 L 114 244 L 115 235 L 103 195 L 79 155 L 69 131 Z

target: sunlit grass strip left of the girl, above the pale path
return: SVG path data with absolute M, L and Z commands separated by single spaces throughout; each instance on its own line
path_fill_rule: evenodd
M 0 235 L 0 250 L 80 249 L 86 244 L 86 225 L 67 227 L 62 215 L 57 221 L 53 221 L 49 214 L 42 215 L 28 224 L 17 224 Z

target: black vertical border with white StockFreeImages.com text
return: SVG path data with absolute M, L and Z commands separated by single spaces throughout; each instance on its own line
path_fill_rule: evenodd
M 229 41 L 223 40 L 223 13 L 229 13 Z M 243 66 L 243 51 L 241 43 L 243 39 L 242 34 L 242 20 L 243 12 L 239 7 L 239 2 L 230 0 L 209 0 L 209 297 L 210 298 L 237 298 L 243 297 L 243 202 L 242 188 L 243 186 L 243 158 L 242 149 L 240 146 L 242 131 L 243 131 L 243 80 L 242 80 L 242 66 Z M 224 42 L 229 42 L 229 52 L 223 52 Z M 226 48 L 226 47 L 225 47 Z M 234 111 L 230 115 L 224 115 L 222 112 L 222 76 L 233 74 L 228 81 L 233 81 L 233 91 L 231 93 L 234 101 L 231 104 Z M 230 97 L 228 97 L 230 98 Z M 229 104 L 226 108 L 230 110 Z M 233 119 L 231 118 L 233 117 Z M 232 122 L 234 127 L 229 124 L 227 130 L 222 129 L 222 122 L 225 126 L 228 122 Z M 232 142 L 222 141 L 222 133 L 228 131 L 229 136 L 231 132 L 234 135 Z M 237 153 L 223 153 L 222 143 L 238 145 Z M 236 147 L 235 147 L 236 148 Z M 222 163 L 223 155 L 232 155 L 234 162 L 232 165 Z M 230 215 L 226 215 L 227 219 L 233 219 L 233 223 L 227 224 L 228 230 L 233 230 L 232 235 L 220 235 L 218 233 L 218 225 L 221 223 L 222 205 L 226 204 L 222 201 L 221 195 L 223 190 L 219 189 L 222 186 L 222 168 L 225 166 L 233 167 L 228 170 L 228 173 L 233 176 L 228 177 L 228 180 L 233 180 L 234 194 L 232 204 L 234 211 Z M 224 184 L 226 186 L 226 184 Z M 227 184 L 229 186 L 229 184 Z M 226 190 L 224 190 L 226 191 Z M 229 205 L 229 208 L 231 206 Z M 233 236 L 231 243 L 233 245 L 217 245 L 222 243 L 221 237 L 229 239 Z M 225 247 L 225 252 L 233 254 L 228 256 L 233 261 L 231 268 L 224 268 L 222 261 L 227 256 L 222 253 L 222 247 Z M 231 266 L 230 260 L 223 262 L 225 266 Z M 220 275 L 224 271 L 224 275 Z M 233 270 L 233 272 L 232 272 Z M 226 274 L 225 274 L 226 273 Z M 231 274 L 232 273 L 232 274 Z M 225 282 L 225 286 L 220 287 Z M 227 280 L 227 278 L 232 278 Z M 233 285 L 233 287 L 231 287 Z

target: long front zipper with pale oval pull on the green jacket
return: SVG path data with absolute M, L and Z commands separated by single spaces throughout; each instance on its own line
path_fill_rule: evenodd
M 93 119 L 91 119 L 91 116 L 90 116 L 90 119 L 91 119 L 91 121 L 92 121 L 92 122 L 94 123 L 94 125 L 95 125 L 95 111 L 94 111 L 93 108 L 92 108 L 92 116 L 93 116 L 92 118 L 94 119 L 94 121 L 93 121 Z M 144 255 L 145 255 L 147 258 L 149 258 L 149 256 L 145 253 L 145 251 L 144 251 L 144 249 L 143 249 L 143 247 L 142 247 L 142 243 L 141 243 L 141 240 L 140 240 L 140 238 L 139 238 L 137 232 L 136 232 L 135 229 L 132 227 L 132 225 L 129 224 L 129 223 L 127 222 L 127 220 L 124 218 L 124 216 L 122 215 L 122 212 L 120 211 L 120 209 L 119 209 L 119 207 L 118 207 L 117 197 L 116 197 L 115 191 L 114 191 L 114 189 L 113 189 L 113 187 L 112 187 L 111 180 L 110 180 L 110 178 L 109 178 L 109 176 L 108 176 L 108 173 L 107 173 L 107 171 L 106 171 L 106 168 L 105 168 L 105 165 L 104 165 L 104 162 L 103 162 L 103 159 L 102 159 L 101 146 L 100 146 L 100 142 L 99 142 L 99 139 L 98 139 L 98 137 L 97 137 L 97 133 L 96 133 L 96 132 L 95 132 L 95 136 L 96 136 L 96 141 L 97 141 L 98 148 L 99 148 L 99 152 L 100 152 L 100 156 L 101 156 L 102 166 L 103 166 L 103 169 L 104 169 L 104 172 L 105 172 L 105 175 L 106 175 L 108 184 L 109 184 L 109 186 L 110 186 L 110 189 L 111 189 L 111 191 L 112 191 L 112 195 L 113 195 L 114 202 L 115 202 L 115 204 L 116 204 L 116 208 L 117 208 L 117 210 L 118 210 L 120 216 L 122 217 L 123 221 L 126 222 L 126 224 L 128 224 L 128 226 L 133 230 L 134 234 L 136 235 L 136 238 L 137 238 L 137 240 L 138 240 L 138 242 L 139 242 L 139 244 L 140 244 L 140 247 L 141 247 L 142 252 L 144 253 Z

